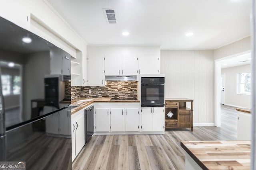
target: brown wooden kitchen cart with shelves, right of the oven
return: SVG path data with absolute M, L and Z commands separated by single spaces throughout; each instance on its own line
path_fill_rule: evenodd
M 191 109 L 186 107 L 186 102 L 191 102 Z M 165 129 L 190 128 L 193 131 L 193 102 L 187 98 L 166 98 L 165 99 Z M 167 117 L 171 111 L 173 116 Z

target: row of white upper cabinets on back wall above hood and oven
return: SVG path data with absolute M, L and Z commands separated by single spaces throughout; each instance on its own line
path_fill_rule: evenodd
M 89 86 L 104 86 L 105 75 L 160 74 L 158 46 L 88 46 L 87 54 Z

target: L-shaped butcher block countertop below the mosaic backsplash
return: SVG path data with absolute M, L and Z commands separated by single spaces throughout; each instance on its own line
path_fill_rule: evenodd
M 140 100 L 110 100 L 111 98 L 77 98 L 74 100 L 71 100 L 70 106 L 78 106 L 71 110 L 71 114 L 76 113 L 77 111 L 83 109 L 84 107 L 89 106 L 90 104 L 93 104 L 94 102 L 140 102 Z M 83 100 L 89 100 L 89 101 L 83 101 Z

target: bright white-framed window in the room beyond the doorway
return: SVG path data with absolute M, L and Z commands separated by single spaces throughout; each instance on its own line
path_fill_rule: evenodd
M 237 93 L 238 94 L 251 94 L 251 73 L 244 72 L 239 73 L 237 84 Z

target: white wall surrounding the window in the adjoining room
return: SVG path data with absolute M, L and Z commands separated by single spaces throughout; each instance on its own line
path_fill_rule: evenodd
M 246 94 L 236 94 L 237 74 L 242 72 L 251 72 L 251 65 L 235 66 L 221 69 L 221 74 L 226 77 L 225 104 L 235 107 L 251 106 L 251 96 Z

